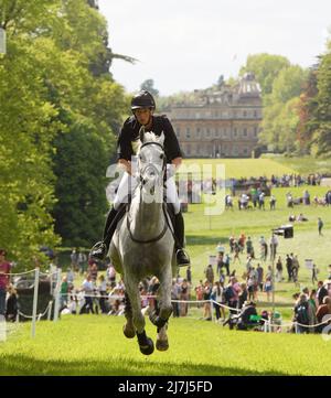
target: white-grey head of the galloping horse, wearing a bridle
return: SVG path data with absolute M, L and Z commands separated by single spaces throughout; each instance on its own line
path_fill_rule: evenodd
M 157 186 L 163 186 L 163 175 L 167 165 L 164 153 L 164 135 L 140 131 L 140 148 L 138 150 L 138 174 L 142 190 L 154 194 Z

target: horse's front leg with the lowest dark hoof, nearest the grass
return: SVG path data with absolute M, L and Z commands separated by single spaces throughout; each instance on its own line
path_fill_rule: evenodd
M 130 310 L 132 322 L 136 329 L 137 338 L 140 352 L 145 355 L 150 355 L 154 351 L 154 344 L 145 332 L 145 318 L 141 313 L 140 293 L 138 290 L 138 282 L 125 278 L 126 292 L 130 302 Z

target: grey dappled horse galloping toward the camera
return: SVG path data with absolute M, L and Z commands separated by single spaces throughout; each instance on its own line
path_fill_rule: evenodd
M 167 161 L 163 133 L 140 133 L 138 150 L 139 181 L 132 193 L 129 211 L 118 223 L 109 248 L 109 257 L 126 287 L 126 319 L 124 334 L 137 334 L 142 354 L 153 352 L 153 342 L 146 335 L 138 284 L 146 277 L 156 276 L 160 281 L 159 311 L 150 314 L 158 326 L 157 348 L 169 347 L 167 321 L 172 312 L 171 283 L 177 271 L 173 235 L 163 213 L 163 176 Z

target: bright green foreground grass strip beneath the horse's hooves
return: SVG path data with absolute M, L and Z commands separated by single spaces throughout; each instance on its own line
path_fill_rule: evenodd
M 24 324 L 0 343 L 0 375 L 331 375 L 330 342 L 320 335 L 237 332 L 171 319 L 168 352 L 140 354 L 121 333 L 124 318 L 66 315 Z M 154 340 L 156 327 L 147 333 Z M 194 342 L 194 343 L 193 343 Z

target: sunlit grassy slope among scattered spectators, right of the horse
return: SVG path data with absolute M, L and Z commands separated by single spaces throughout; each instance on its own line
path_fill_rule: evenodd
M 313 195 L 321 196 L 324 192 L 324 187 L 309 186 L 311 197 Z M 185 217 L 186 228 L 186 241 L 188 249 L 192 257 L 192 271 L 194 283 L 203 278 L 203 271 L 207 266 L 209 255 L 216 254 L 216 246 L 218 241 L 222 241 L 226 250 L 228 250 L 228 237 L 234 234 L 236 237 L 244 232 L 246 236 L 250 236 L 254 243 L 255 254 L 259 255 L 258 238 L 264 235 L 269 239 L 271 229 L 282 224 L 288 224 L 288 216 L 290 213 L 298 215 L 303 213 L 308 217 L 306 223 L 295 223 L 295 237 L 292 239 L 284 239 L 279 237 L 278 251 L 282 258 L 285 254 L 293 252 L 298 255 L 300 261 L 299 281 L 301 284 L 312 287 L 310 281 L 310 271 L 305 267 L 305 259 L 312 258 L 318 268 L 320 269 L 319 278 L 327 279 L 328 266 L 330 260 L 330 247 L 331 241 L 331 209 L 329 207 L 314 207 L 299 205 L 293 209 L 286 207 L 286 193 L 289 189 L 275 189 L 273 193 L 277 197 L 277 209 L 270 212 L 268 206 L 266 211 L 249 209 L 239 212 L 237 208 L 232 211 L 225 211 L 217 216 L 205 216 L 203 204 L 192 204 L 189 206 L 189 213 Z M 292 194 L 297 197 L 302 195 L 303 187 L 290 189 Z M 236 201 L 235 201 L 236 204 Z M 268 198 L 266 201 L 268 205 Z M 321 217 L 324 222 L 323 237 L 318 236 L 317 220 Z M 237 270 L 237 275 L 241 276 L 245 270 L 246 256 L 242 255 L 242 265 L 238 262 L 231 268 Z M 255 265 L 258 261 L 255 261 Z M 270 265 L 266 262 L 266 267 Z M 284 276 L 286 277 L 286 267 L 284 263 Z M 281 295 L 290 298 L 291 294 L 298 290 L 293 283 L 279 283 L 277 287 L 281 291 Z

